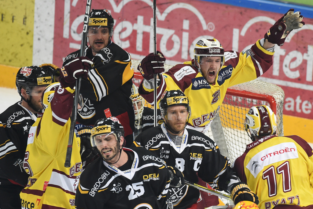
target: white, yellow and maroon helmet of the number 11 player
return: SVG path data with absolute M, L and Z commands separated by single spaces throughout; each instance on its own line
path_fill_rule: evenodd
M 269 106 L 254 106 L 246 114 L 244 125 L 247 133 L 249 129 L 251 136 L 249 133 L 248 135 L 254 141 L 254 136 L 276 134 L 276 115 Z

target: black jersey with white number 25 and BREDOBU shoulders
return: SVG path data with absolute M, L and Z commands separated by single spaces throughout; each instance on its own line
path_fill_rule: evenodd
M 130 169 L 121 171 L 98 158 L 81 173 L 77 209 L 167 207 L 170 174 L 164 161 L 143 148 L 123 149 L 131 160 Z

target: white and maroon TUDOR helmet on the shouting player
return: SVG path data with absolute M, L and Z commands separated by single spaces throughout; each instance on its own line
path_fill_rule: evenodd
M 193 53 L 195 65 L 198 67 L 198 70 L 200 70 L 202 57 L 221 57 L 221 66 L 219 70 L 221 70 L 223 64 L 225 63 L 224 49 L 217 39 L 202 38 L 198 40 Z

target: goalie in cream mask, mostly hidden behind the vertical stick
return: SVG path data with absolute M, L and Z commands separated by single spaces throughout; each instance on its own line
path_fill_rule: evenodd
M 154 127 L 154 112 L 150 107 L 145 107 L 145 99 L 138 93 L 138 87 L 133 84 L 131 87 L 131 101 L 133 102 L 135 112 L 135 131 L 134 138 L 136 138 L 144 130 Z M 162 118 L 160 109 L 157 109 L 156 122 L 161 125 Z

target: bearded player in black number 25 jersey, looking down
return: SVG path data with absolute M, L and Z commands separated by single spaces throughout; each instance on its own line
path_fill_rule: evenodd
M 80 175 L 75 196 L 77 209 L 172 206 L 167 204 L 171 176 L 165 162 L 144 148 L 123 148 L 123 135 L 123 126 L 115 117 L 95 123 L 90 141 L 101 157 Z

